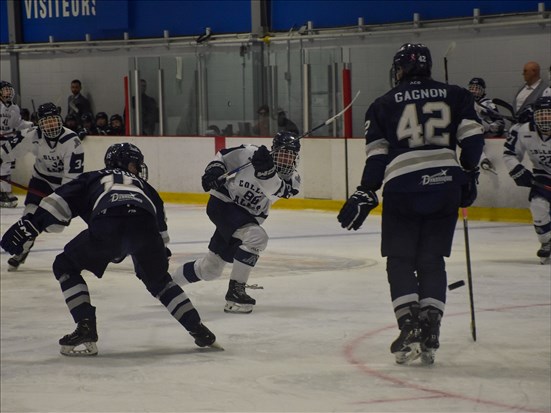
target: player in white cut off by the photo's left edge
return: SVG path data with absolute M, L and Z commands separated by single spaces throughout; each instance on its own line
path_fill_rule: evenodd
M 12 84 L 0 81 L 0 145 L 9 140 L 18 139 L 20 131 L 31 128 L 32 122 L 21 119 L 19 106 L 15 103 L 15 89 Z M 13 162 L 2 162 L 0 165 L 0 207 L 15 208 L 17 197 L 11 192 L 9 183 Z

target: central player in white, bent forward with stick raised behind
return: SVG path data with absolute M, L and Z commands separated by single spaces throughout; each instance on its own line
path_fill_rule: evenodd
M 224 311 L 252 312 L 256 300 L 245 292 L 245 287 L 268 244 L 268 234 L 261 225 L 274 202 L 298 194 L 299 151 L 299 138 L 291 132 L 280 132 L 273 139 L 271 152 L 264 145 L 241 145 L 216 154 L 202 177 L 203 189 L 211 195 L 207 215 L 216 230 L 208 253 L 173 273 L 178 284 L 219 278 L 225 264 L 233 263 Z M 228 171 L 248 162 L 252 167 L 226 178 Z

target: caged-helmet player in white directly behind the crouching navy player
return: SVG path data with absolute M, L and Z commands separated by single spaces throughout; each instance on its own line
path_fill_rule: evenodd
M 84 170 L 84 150 L 77 134 L 63 126 L 56 105 L 44 103 L 38 108 L 38 128 L 23 133 L 22 139 L 5 142 L 0 150 L 2 163 L 32 152 L 36 157 L 29 181 L 23 215 L 34 214 L 43 197 L 62 184 L 77 178 Z M 52 226 L 46 232 L 58 232 Z M 22 254 L 8 260 L 8 271 L 15 271 L 25 262 L 32 244 Z

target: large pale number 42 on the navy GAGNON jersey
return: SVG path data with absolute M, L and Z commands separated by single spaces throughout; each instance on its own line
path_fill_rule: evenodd
M 398 140 L 408 140 L 408 146 L 415 148 L 423 145 L 449 146 L 450 134 L 436 134 L 436 129 L 446 129 L 451 121 L 450 107 L 445 102 L 427 102 L 421 107 L 425 123 L 419 122 L 417 105 L 409 103 L 404 107 L 396 136 Z

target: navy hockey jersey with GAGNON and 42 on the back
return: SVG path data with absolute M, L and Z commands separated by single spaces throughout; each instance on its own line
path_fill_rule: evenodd
M 480 160 L 482 134 L 468 90 L 429 78 L 401 82 L 366 112 L 362 186 L 417 192 L 462 185 L 462 168 Z

